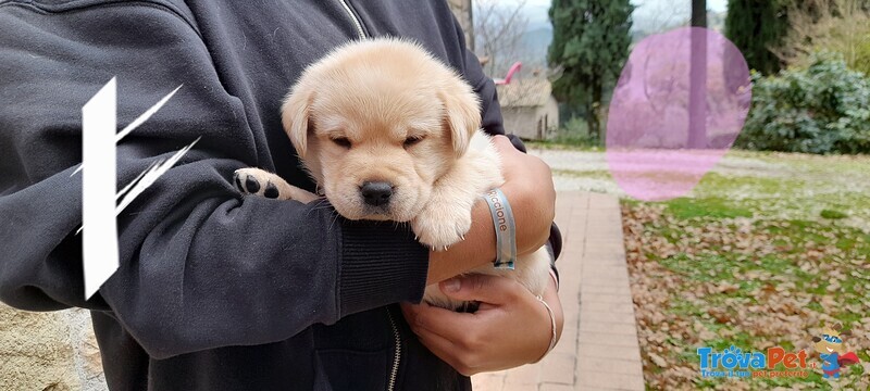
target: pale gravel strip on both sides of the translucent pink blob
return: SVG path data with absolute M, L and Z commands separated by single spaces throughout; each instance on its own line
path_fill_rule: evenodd
M 554 172 L 557 190 L 630 197 L 610 175 L 605 152 L 546 149 L 530 153 Z M 818 219 L 822 211 L 848 217 L 845 225 L 870 230 L 870 156 L 730 151 L 686 198 L 739 202 L 757 216 Z

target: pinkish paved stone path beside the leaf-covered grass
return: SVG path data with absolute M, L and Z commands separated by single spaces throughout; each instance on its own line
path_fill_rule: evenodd
M 475 391 L 644 390 L 619 201 L 560 192 L 564 330 L 540 363 L 472 377 Z

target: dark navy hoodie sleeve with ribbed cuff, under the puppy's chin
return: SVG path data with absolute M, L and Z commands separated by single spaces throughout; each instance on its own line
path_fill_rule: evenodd
M 163 358 L 422 298 L 428 252 L 407 229 L 234 189 L 233 171 L 256 166 L 261 144 L 191 17 L 157 3 L 74 3 L 0 2 L 0 300 L 112 312 Z M 112 77 L 121 126 L 183 86 L 119 143 L 119 188 L 201 139 L 119 215 L 121 266 L 85 301 L 72 173 L 82 106 Z

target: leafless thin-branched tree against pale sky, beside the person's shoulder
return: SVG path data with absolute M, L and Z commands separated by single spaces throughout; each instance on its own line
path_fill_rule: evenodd
M 485 59 L 484 72 L 502 77 L 511 64 L 525 56 L 523 34 L 529 17 L 523 14 L 525 0 L 507 5 L 505 1 L 474 1 L 474 39 L 476 53 Z

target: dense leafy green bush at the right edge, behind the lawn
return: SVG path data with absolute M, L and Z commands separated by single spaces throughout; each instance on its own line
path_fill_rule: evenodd
M 735 146 L 805 153 L 870 153 L 870 79 L 841 55 L 807 67 L 753 74 L 753 108 Z

